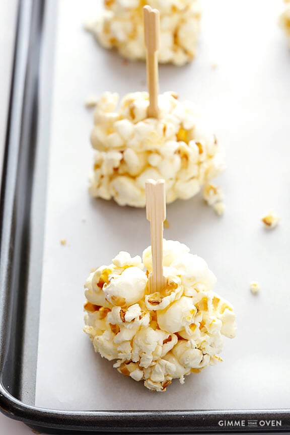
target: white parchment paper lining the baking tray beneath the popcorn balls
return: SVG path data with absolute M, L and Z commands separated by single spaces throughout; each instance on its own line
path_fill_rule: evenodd
M 226 195 L 221 218 L 200 196 L 167 208 L 165 238 L 186 243 L 218 277 L 216 292 L 237 313 L 224 362 L 153 394 L 94 353 L 83 333 L 83 284 L 92 267 L 120 250 L 150 244 L 143 209 L 92 200 L 93 150 L 89 94 L 143 90 L 143 63 L 126 63 L 95 44 L 83 23 L 95 0 L 58 2 L 56 66 L 41 286 L 36 405 L 61 410 L 276 409 L 290 403 L 290 53 L 276 0 L 204 0 L 196 60 L 160 68 L 161 90 L 201 107 L 224 145 L 228 170 L 217 180 Z M 54 31 L 54 29 L 52 29 Z M 212 63 L 218 66 L 212 68 Z M 51 90 L 48 90 L 51 92 Z M 260 216 L 281 216 L 266 231 Z M 60 239 L 67 244 L 62 246 Z M 261 292 L 253 296 L 249 283 Z

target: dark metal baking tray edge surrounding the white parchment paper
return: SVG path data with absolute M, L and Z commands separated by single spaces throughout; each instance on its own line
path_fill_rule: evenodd
M 34 406 L 40 288 L 31 276 L 36 273 L 33 256 L 42 254 L 45 210 L 36 209 L 39 225 L 32 225 L 32 215 L 33 194 L 39 188 L 38 79 L 46 6 L 44 0 L 22 0 L 18 16 L 1 191 L 1 411 L 46 433 L 290 431 L 288 409 L 71 412 Z M 45 192 L 45 168 L 42 174 Z M 32 236 L 38 240 L 33 247 Z

